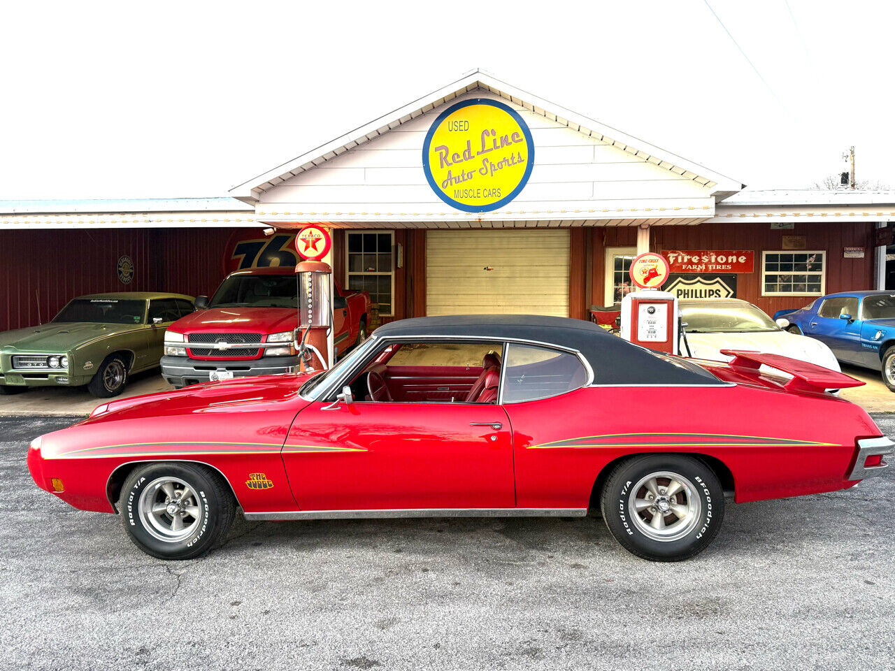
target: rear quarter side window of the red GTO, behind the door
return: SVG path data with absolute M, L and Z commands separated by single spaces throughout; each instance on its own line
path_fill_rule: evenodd
M 524 344 L 508 345 L 504 371 L 504 403 L 565 394 L 587 381 L 587 371 L 574 354 Z

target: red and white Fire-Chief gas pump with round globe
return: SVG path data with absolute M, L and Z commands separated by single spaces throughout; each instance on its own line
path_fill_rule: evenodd
M 660 254 L 646 252 L 631 262 L 631 281 L 643 291 L 621 300 L 621 337 L 657 352 L 678 353 L 678 298 L 659 291 L 668 279 L 669 264 Z

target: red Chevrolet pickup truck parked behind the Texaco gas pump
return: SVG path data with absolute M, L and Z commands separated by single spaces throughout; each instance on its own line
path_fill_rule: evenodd
M 336 284 L 333 331 L 336 355 L 367 336 L 370 294 L 344 293 Z M 162 377 L 180 388 L 209 380 L 287 373 L 298 367 L 294 268 L 252 268 L 226 277 L 209 301 L 167 328 Z

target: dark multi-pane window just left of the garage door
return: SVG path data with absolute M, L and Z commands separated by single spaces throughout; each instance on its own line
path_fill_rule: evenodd
M 370 293 L 370 300 L 379 303 L 379 314 L 393 314 L 394 249 L 392 231 L 347 231 L 345 268 L 347 290 Z

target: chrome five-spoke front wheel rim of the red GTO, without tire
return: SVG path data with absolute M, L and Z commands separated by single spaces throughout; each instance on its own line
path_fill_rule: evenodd
M 196 491 L 179 478 L 152 480 L 140 495 L 140 521 L 158 540 L 176 543 L 199 529 L 202 506 Z

